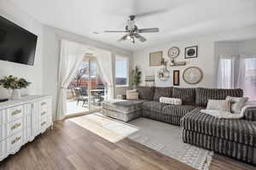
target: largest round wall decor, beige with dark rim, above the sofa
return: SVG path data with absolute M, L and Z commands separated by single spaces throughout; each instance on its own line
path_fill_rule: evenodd
M 200 68 L 191 66 L 183 71 L 183 80 L 189 84 L 197 84 L 201 82 L 203 72 Z

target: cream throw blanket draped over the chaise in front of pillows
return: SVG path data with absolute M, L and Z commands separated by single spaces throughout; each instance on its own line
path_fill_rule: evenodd
M 201 110 L 201 112 L 206 113 L 207 115 L 215 116 L 219 119 L 241 119 L 244 116 L 244 113 L 249 108 L 256 108 L 256 105 L 245 105 L 240 114 L 230 113 L 229 111 L 218 111 L 218 110 Z

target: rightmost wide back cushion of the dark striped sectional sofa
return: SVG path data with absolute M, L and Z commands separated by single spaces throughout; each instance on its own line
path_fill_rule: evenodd
M 242 97 L 242 89 L 196 88 L 195 105 L 206 107 L 208 99 L 226 99 L 227 96 Z

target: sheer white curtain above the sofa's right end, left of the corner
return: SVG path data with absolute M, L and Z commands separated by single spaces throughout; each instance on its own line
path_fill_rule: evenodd
M 236 55 L 220 55 L 218 59 L 218 88 L 235 88 Z

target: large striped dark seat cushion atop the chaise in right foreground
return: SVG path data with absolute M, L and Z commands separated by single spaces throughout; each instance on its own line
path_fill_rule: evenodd
M 243 119 L 218 119 L 201 113 L 201 108 L 196 108 L 183 116 L 181 126 L 192 132 L 256 146 L 256 122 Z

